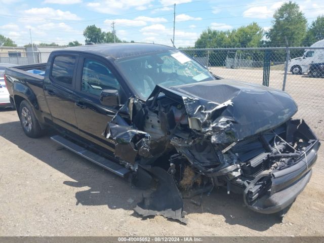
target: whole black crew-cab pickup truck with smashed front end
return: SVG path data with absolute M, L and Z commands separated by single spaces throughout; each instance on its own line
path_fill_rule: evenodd
M 67 48 L 8 68 L 5 79 L 27 136 L 54 127 L 52 139 L 71 151 L 139 187 L 157 182 L 135 208 L 143 216 L 184 221 L 183 197 L 216 187 L 254 211 L 282 211 L 308 183 L 320 146 L 292 119 L 287 93 L 222 79 L 167 46 Z

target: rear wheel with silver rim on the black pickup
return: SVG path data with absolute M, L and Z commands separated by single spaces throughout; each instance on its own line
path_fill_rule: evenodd
M 30 138 L 42 136 L 42 129 L 30 104 L 23 100 L 19 106 L 19 119 L 24 133 Z

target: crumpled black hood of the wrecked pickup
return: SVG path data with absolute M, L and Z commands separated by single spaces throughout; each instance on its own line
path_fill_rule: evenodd
M 159 93 L 183 100 L 191 129 L 228 143 L 270 130 L 297 112 L 286 92 L 230 79 L 174 86 L 156 86 Z

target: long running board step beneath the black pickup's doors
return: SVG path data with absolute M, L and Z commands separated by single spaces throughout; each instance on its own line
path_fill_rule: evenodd
M 95 154 L 85 149 L 84 147 L 81 147 L 59 135 L 52 136 L 51 139 L 54 142 L 62 145 L 64 148 L 90 160 L 91 162 L 97 164 L 98 166 L 101 166 L 102 168 L 108 171 L 115 173 L 118 176 L 126 177 L 131 172 L 130 170 L 127 170 L 123 166 L 118 165 L 117 163 L 114 163 L 109 159 L 104 158 L 98 154 Z

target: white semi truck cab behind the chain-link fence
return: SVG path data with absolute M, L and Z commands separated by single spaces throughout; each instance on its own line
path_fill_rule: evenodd
M 305 49 L 302 57 L 291 59 L 288 64 L 288 70 L 293 74 L 305 73 L 310 64 L 324 61 L 324 39 L 314 43 L 310 47 L 322 47 L 323 49 Z

